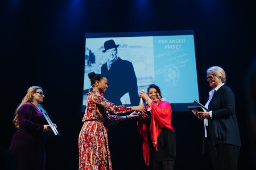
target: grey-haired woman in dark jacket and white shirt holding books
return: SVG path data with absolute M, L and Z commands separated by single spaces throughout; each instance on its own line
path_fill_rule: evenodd
M 241 140 L 235 97 L 225 85 L 226 74 L 221 67 L 207 69 L 207 81 L 212 87 L 205 104 L 209 112 L 198 112 L 196 116 L 204 121 L 205 141 L 214 170 L 236 170 Z

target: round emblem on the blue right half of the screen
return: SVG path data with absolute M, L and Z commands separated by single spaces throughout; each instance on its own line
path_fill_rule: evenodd
M 177 83 L 180 79 L 180 71 L 174 65 L 164 67 L 164 79 L 170 83 Z

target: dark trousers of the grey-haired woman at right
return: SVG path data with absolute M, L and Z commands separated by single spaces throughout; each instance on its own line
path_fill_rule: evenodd
M 214 170 L 237 170 L 240 155 L 239 146 L 217 143 L 216 148 L 214 148 L 210 138 L 205 139 Z

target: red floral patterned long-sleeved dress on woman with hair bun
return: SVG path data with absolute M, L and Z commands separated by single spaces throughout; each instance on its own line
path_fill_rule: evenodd
M 108 142 L 108 125 L 117 124 L 121 117 L 114 114 L 130 112 L 131 107 L 115 106 L 106 100 L 102 92 L 92 91 L 86 100 L 86 109 L 82 118 L 82 129 L 79 134 L 79 169 L 108 169 L 112 163 Z

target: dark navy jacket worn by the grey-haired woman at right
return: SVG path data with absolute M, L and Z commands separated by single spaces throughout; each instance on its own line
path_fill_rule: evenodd
M 215 91 L 208 108 L 212 111 L 212 118 L 208 118 L 208 134 L 213 146 L 216 143 L 241 146 L 235 97 L 230 87 L 224 85 Z

